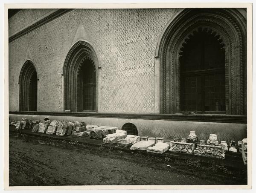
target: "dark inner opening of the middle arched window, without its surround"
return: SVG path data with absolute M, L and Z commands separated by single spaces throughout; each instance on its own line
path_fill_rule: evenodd
M 95 111 L 96 106 L 96 71 L 93 61 L 84 57 L 78 72 L 79 111 Z

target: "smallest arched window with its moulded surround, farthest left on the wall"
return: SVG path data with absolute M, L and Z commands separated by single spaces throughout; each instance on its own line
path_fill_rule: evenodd
M 35 66 L 31 61 L 26 61 L 23 65 L 19 84 L 19 110 L 20 111 L 36 111 L 37 110 L 37 73 Z

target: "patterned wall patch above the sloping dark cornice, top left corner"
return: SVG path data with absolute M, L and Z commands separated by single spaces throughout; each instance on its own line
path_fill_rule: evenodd
M 22 9 L 9 19 L 9 35 L 14 34 L 54 9 Z

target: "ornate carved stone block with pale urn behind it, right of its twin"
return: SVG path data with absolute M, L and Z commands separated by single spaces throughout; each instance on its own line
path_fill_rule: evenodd
M 214 158 L 225 158 L 225 146 L 224 145 L 197 145 L 194 150 L 194 154 L 197 156 L 206 156 Z

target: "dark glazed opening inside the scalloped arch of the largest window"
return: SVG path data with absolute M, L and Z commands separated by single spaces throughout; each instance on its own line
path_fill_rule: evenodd
M 194 31 L 180 57 L 180 109 L 225 112 L 225 50 L 211 30 Z

